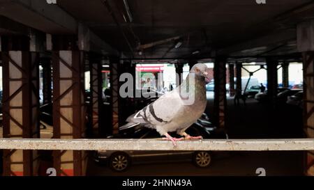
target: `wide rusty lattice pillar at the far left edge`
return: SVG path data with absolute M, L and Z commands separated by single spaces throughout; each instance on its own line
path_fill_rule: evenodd
M 38 54 L 2 52 L 3 137 L 39 138 Z M 3 175 L 37 175 L 37 151 L 4 150 Z

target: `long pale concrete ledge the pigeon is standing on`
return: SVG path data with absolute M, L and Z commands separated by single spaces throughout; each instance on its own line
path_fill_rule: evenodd
M 13 139 L 0 138 L 8 150 L 314 150 L 314 138 L 181 141 L 174 147 L 160 139 Z

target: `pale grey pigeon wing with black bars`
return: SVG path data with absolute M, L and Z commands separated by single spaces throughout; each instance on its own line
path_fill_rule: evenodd
M 151 126 L 165 125 L 177 116 L 183 106 L 179 94 L 172 91 L 130 116 L 126 121 Z

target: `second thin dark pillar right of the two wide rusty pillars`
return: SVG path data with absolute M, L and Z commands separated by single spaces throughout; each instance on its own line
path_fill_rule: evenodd
M 110 88 L 112 105 L 112 134 L 119 133 L 119 66 L 117 59 L 110 60 Z

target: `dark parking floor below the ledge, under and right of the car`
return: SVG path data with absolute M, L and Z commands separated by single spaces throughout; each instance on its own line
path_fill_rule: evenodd
M 255 176 L 264 168 L 269 176 L 302 175 L 303 152 L 223 152 L 224 157 L 213 159 L 209 168 L 197 168 L 191 162 L 137 164 L 124 173 L 113 172 L 107 166 L 89 160 L 87 175 L 102 176 Z

